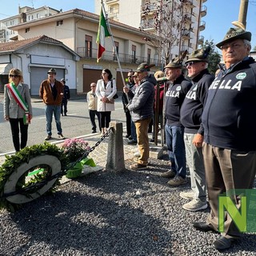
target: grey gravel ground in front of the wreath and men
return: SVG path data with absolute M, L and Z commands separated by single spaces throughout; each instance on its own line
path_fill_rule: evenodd
M 253 234 L 224 253 L 214 250 L 218 234 L 191 225 L 210 210 L 182 210 L 186 200 L 178 194 L 190 183 L 171 188 L 159 177 L 168 168 L 166 154 L 150 163 L 147 170 L 71 180 L 14 214 L 2 212 L 0 255 L 256 255 Z

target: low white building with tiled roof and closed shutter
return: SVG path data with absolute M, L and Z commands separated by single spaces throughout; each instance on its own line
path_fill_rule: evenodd
M 69 82 L 70 93 L 76 94 L 76 62 L 80 59 L 62 42 L 46 35 L 23 39 L 22 41 L 0 44 L 0 91 L 8 83 L 10 69 L 22 70 L 24 82 L 30 86 L 30 94 L 38 95 L 42 80 L 47 79 L 47 71 L 54 67 L 56 78 Z

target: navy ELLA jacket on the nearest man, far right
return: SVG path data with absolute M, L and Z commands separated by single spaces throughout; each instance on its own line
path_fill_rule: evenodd
M 205 142 L 230 150 L 256 150 L 256 63 L 246 58 L 221 71 L 202 114 Z

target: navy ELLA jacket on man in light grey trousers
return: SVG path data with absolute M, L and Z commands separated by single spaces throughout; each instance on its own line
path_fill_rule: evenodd
M 181 122 L 186 134 L 203 134 L 201 125 L 202 109 L 206 102 L 208 88 L 214 76 L 207 69 L 192 78 L 193 86 L 182 104 Z

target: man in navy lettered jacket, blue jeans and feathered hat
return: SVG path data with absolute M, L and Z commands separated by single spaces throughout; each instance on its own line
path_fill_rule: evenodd
M 165 66 L 166 78 L 170 81 L 166 91 L 166 146 L 170 158 L 170 170 L 161 174 L 162 177 L 172 178 L 167 184 L 180 186 L 186 181 L 186 153 L 184 144 L 184 126 L 180 122 L 180 110 L 192 83 L 182 74 L 183 58 L 174 58 Z

